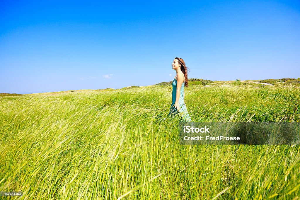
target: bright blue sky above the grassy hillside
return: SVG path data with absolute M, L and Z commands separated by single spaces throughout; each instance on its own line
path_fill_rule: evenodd
M 0 93 L 300 77 L 300 1 L 1 1 Z

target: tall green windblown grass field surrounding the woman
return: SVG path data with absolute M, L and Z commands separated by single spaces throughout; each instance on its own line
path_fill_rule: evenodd
M 179 118 L 167 118 L 171 93 L 163 84 L 0 97 L 0 191 L 22 191 L 21 199 L 300 197 L 299 145 L 179 145 Z M 293 86 L 198 81 L 185 88 L 185 103 L 193 121 L 300 121 Z

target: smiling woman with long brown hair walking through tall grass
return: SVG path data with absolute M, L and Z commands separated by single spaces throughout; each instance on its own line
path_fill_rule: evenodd
M 179 113 L 182 116 L 181 121 L 190 122 L 192 120 L 184 103 L 184 86 L 188 87 L 187 67 L 183 59 L 177 57 L 174 59 L 172 66 L 173 70 L 176 71 L 176 76 L 172 82 L 172 105 L 169 116 Z

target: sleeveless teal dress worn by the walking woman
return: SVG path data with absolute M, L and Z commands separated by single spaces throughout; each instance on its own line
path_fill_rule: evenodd
M 187 112 L 187 107 L 184 103 L 184 82 L 182 83 L 181 88 L 180 88 L 180 96 L 179 96 L 179 101 L 178 101 L 178 104 L 179 104 L 179 107 L 180 107 L 179 111 L 178 111 L 177 108 L 174 107 L 175 101 L 176 101 L 176 90 L 177 90 L 177 80 L 176 80 L 176 78 L 174 78 L 174 80 L 172 82 L 172 87 L 173 87 L 172 105 L 170 107 L 169 116 L 179 114 L 179 115 L 181 115 L 181 121 L 186 121 L 186 122 L 192 121 L 191 118 L 190 118 L 190 115 Z

